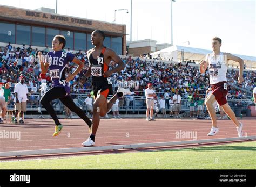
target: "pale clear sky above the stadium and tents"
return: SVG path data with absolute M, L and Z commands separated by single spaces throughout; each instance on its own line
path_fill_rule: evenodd
M 256 56 L 255 0 L 176 0 L 172 4 L 174 45 L 211 50 L 211 39 L 217 36 L 223 40 L 221 51 Z M 0 5 L 55 9 L 56 1 L 0 0 Z M 117 9 L 129 13 L 116 11 L 114 21 Z M 58 0 L 58 13 L 126 24 L 130 41 L 131 0 Z M 171 0 L 132 0 L 132 41 L 144 39 L 171 43 Z

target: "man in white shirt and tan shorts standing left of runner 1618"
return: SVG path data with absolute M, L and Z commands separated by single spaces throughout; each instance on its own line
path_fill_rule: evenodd
M 24 123 L 22 120 L 23 117 L 23 112 L 26 112 L 26 100 L 28 100 L 28 87 L 25 84 L 25 77 L 21 75 L 19 77 L 19 82 L 15 85 L 14 87 L 14 92 L 15 92 L 15 118 L 14 118 L 14 123 L 18 123 L 17 116 L 18 113 L 20 112 L 19 116 L 19 123 Z

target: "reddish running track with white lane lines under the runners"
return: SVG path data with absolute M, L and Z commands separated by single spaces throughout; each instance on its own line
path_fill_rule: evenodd
M 255 117 L 241 119 L 245 135 L 256 135 L 255 119 Z M 56 137 L 52 137 L 55 125 L 51 119 L 26 119 L 25 124 L 1 124 L 0 133 L 17 131 L 21 136 L 20 140 L 17 140 L 17 137 L 11 139 L 0 136 L 0 152 L 82 147 L 81 143 L 89 136 L 89 128 L 84 121 L 62 119 L 60 122 L 64 128 Z M 220 131 L 217 135 L 207 136 L 211 128 L 211 120 L 101 119 L 95 146 L 193 140 L 193 137 L 177 136 L 177 132 L 188 131 L 197 135 L 197 140 L 238 137 L 231 120 L 218 120 L 218 127 Z

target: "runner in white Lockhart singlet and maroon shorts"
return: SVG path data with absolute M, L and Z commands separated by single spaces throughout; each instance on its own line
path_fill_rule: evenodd
M 220 52 L 221 39 L 215 37 L 212 39 L 212 49 L 213 53 L 207 54 L 205 61 L 200 63 L 200 73 L 205 73 L 207 67 L 210 74 L 210 84 L 212 87 L 212 94 L 206 99 L 206 107 L 212 119 L 212 128 L 208 136 L 212 136 L 218 133 L 219 128 L 217 127 L 216 113 L 214 110 L 213 103 L 215 101 L 223 108 L 226 114 L 233 121 L 235 126 L 237 126 L 238 136 L 242 137 L 242 126 L 243 124 L 237 120 L 233 110 L 227 103 L 226 95 L 228 92 L 227 88 L 227 67 L 228 61 L 233 60 L 235 62 L 239 62 L 239 76 L 238 83 L 242 83 L 244 78 L 242 77 L 242 73 L 244 70 L 244 61 L 237 56 L 234 56 L 230 53 Z

